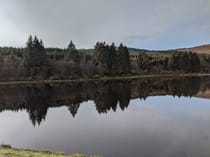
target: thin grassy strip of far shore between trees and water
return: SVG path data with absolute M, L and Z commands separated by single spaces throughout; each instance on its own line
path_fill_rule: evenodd
M 108 81 L 108 80 L 129 80 L 153 77 L 204 77 L 210 76 L 210 73 L 172 73 L 172 74 L 142 74 L 142 75 L 125 75 L 125 76 L 104 76 L 97 78 L 81 78 L 81 79 L 63 79 L 63 80 L 9 80 L 0 81 L 0 85 L 22 85 L 22 84 L 49 84 L 49 83 L 79 83 L 88 81 Z

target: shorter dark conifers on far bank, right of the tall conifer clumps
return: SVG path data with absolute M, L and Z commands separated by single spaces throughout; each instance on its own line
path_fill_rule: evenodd
M 200 72 L 201 61 L 196 53 L 173 52 L 170 57 L 151 57 L 139 53 L 137 63 L 145 73 L 157 71 L 180 71 L 186 73 Z

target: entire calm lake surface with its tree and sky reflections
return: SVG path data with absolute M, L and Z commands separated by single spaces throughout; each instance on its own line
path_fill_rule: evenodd
M 210 78 L 0 86 L 0 143 L 103 157 L 209 157 Z

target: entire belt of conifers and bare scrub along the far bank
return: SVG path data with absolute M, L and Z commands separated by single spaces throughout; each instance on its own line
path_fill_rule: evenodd
M 164 54 L 164 53 L 162 53 Z M 71 79 L 160 72 L 209 72 L 210 57 L 192 52 L 151 55 L 138 52 L 130 59 L 129 49 L 97 42 L 94 49 L 78 50 L 70 41 L 65 49 L 45 48 L 30 36 L 25 48 L 0 48 L 0 79 Z M 203 62 L 205 64 L 203 64 Z

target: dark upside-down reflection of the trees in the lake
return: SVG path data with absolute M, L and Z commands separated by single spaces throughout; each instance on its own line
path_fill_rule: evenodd
M 67 106 L 73 117 L 80 103 L 94 101 L 99 114 L 117 106 L 125 110 L 130 99 L 149 96 L 196 96 L 210 89 L 208 77 L 145 78 L 68 84 L 0 86 L 0 112 L 26 110 L 33 125 L 40 125 L 50 107 Z

